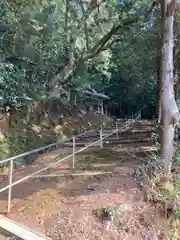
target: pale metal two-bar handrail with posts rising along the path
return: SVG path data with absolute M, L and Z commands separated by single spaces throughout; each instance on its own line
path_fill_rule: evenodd
M 60 162 L 63 162 L 63 161 L 65 161 L 65 160 L 69 159 L 70 157 L 73 157 L 73 165 L 74 165 L 74 156 L 75 156 L 77 153 L 80 153 L 80 152 L 88 149 L 89 147 L 96 145 L 96 144 L 99 143 L 99 142 L 100 142 L 100 147 L 102 148 L 102 141 L 103 141 L 104 139 L 112 136 L 112 135 L 115 134 L 115 133 L 118 133 L 118 132 L 122 131 L 123 129 L 127 129 L 127 127 L 128 127 L 129 125 L 131 125 L 133 122 L 135 122 L 135 121 L 138 120 L 138 119 L 140 119 L 140 114 L 139 114 L 135 119 L 133 119 L 133 116 L 132 116 L 132 118 L 130 119 L 130 121 L 128 121 L 127 123 L 125 123 L 125 125 L 124 125 L 123 127 L 121 127 L 121 128 L 116 128 L 116 130 L 112 131 L 112 132 L 111 132 L 110 134 L 108 134 L 108 135 L 105 135 L 104 137 L 103 137 L 103 135 L 102 135 L 102 127 L 101 127 L 101 129 L 100 129 L 100 139 L 98 139 L 98 140 L 90 143 L 89 145 L 87 145 L 87 146 L 85 146 L 84 148 L 81 148 L 81 149 L 79 149 L 79 150 L 77 150 L 77 151 L 75 151 L 75 141 L 74 141 L 75 138 L 77 138 L 77 137 L 79 137 L 79 136 L 83 136 L 85 133 L 97 131 L 98 129 L 93 129 L 93 130 L 90 130 L 90 131 L 86 131 L 86 132 L 81 133 L 81 134 L 79 134 L 79 135 L 77 135 L 77 136 L 74 136 L 74 137 L 72 137 L 72 138 L 70 138 L 70 139 L 68 139 L 68 140 L 58 141 L 58 142 L 56 142 L 56 143 L 52 143 L 52 144 L 49 144 L 49 145 L 47 145 L 47 146 L 44 146 L 44 147 L 41 147 L 41 148 L 37 148 L 37 149 L 34 149 L 34 150 L 32 150 L 32 151 L 28 151 L 28 152 L 19 154 L 19 155 L 17 155 L 17 156 L 13 156 L 13 157 L 10 157 L 10 158 L 7 158 L 7 159 L 5 159 L 5 160 L 0 161 L 0 164 L 1 164 L 1 163 L 6 163 L 6 162 L 9 162 L 9 161 L 10 161 L 9 184 L 8 184 L 7 186 L 5 186 L 5 187 L 3 187 L 3 188 L 0 189 L 0 193 L 3 192 L 3 191 L 5 191 L 5 190 L 7 190 L 7 189 L 9 189 L 9 192 L 8 192 L 8 212 L 10 212 L 10 209 L 11 209 L 11 193 L 12 193 L 12 187 L 13 187 L 13 186 L 15 186 L 15 185 L 17 185 L 17 184 L 19 184 L 19 183 L 21 183 L 21 182 L 23 182 L 23 181 L 25 181 L 25 180 L 28 180 L 29 178 L 31 178 L 31 177 L 33 177 L 33 176 L 35 176 L 35 175 L 37 175 L 37 174 L 40 174 L 41 172 L 44 172 L 44 171 L 48 170 L 49 168 L 52 168 L 53 166 L 57 165 L 57 164 L 60 163 Z M 47 165 L 46 167 L 44 167 L 44 168 L 42 168 L 42 169 L 40 169 L 40 170 L 38 170 L 38 171 L 36 171 L 36 172 L 34 172 L 34 173 L 32 173 L 32 174 L 29 174 L 29 175 L 27 175 L 26 177 L 23 177 L 23 178 L 15 181 L 15 182 L 12 182 L 13 163 L 14 163 L 15 160 L 17 160 L 17 159 L 19 159 L 19 158 L 21 158 L 21 157 L 27 156 L 27 155 L 29 155 L 29 154 L 32 154 L 32 153 L 36 153 L 36 152 L 42 151 L 42 150 L 47 149 L 47 148 L 49 148 L 49 147 L 56 146 L 57 144 L 60 144 L 60 143 L 63 144 L 63 143 L 65 143 L 65 142 L 67 142 L 67 141 L 69 141 L 69 140 L 71 140 L 71 139 L 73 139 L 73 153 L 72 153 L 72 154 L 69 154 L 68 156 L 66 156 L 66 157 L 64 157 L 64 158 L 59 159 L 59 160 L 56 161 L 56 162 L 52 162 L 52 163 L 50 163 L 49 165 Z

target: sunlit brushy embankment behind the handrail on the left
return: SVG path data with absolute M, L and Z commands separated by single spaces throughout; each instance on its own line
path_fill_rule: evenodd
M 65 140 L 108 121 L 104 116 L 90 114 L 83 114 L 76 106 L 66 106 L 59 99 L 23 106 L 9 116 L 0 132 L 0 160 Z M 37 154 L 32 158 L 36 159 Z

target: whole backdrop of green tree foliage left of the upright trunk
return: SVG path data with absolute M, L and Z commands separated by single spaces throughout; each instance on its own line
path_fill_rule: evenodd
M 151 16 L 144 19 L 150 3 L 1 1 L 1 105 L 52 96 L 67 101 L 70 89 L 88 83 L 109 95 L 109 108 L 121 109 L 121 115 L 143 108 L 151 117 L 160 28 Z

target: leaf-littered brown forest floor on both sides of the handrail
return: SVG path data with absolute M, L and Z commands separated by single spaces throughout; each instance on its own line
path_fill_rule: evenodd
M 155 150 L 149 142 L 91 148 L 76 156 L 75 170 L 71 169 L 70 159 L 44 173 L 84 172 L 84 176 L 33 178 L 15 186 L 8 217 L 52 240 L 169 239 L 166 218 L 154 204 L 145 201 L 139 171 Z M 39 166 L 33 165 L 32 170 L 58 153 L 56 150 L 42 156 Z M 29 173 L 30 167 L 26 169 Z M 87 176 L 87 171 L 108 173 Z M 25 168 L 19 169 L 14 179 L 24 174 Z M 7 194 L 1 194 L 1 213 L 6 199 Z

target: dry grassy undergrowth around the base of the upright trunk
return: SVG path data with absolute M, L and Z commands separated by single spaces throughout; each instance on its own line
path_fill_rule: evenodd
M 150 160 L 153 171 L 149 174 L 149 164 L 143 169 L 144 199 L 155 204 L 157 211 L 167 220 L 170 229 L 170 239 L 180 239 L 180 154 L 176 148 L 172 166 L 172 175 L 164 176 L 159 158 L 153 156 Z

